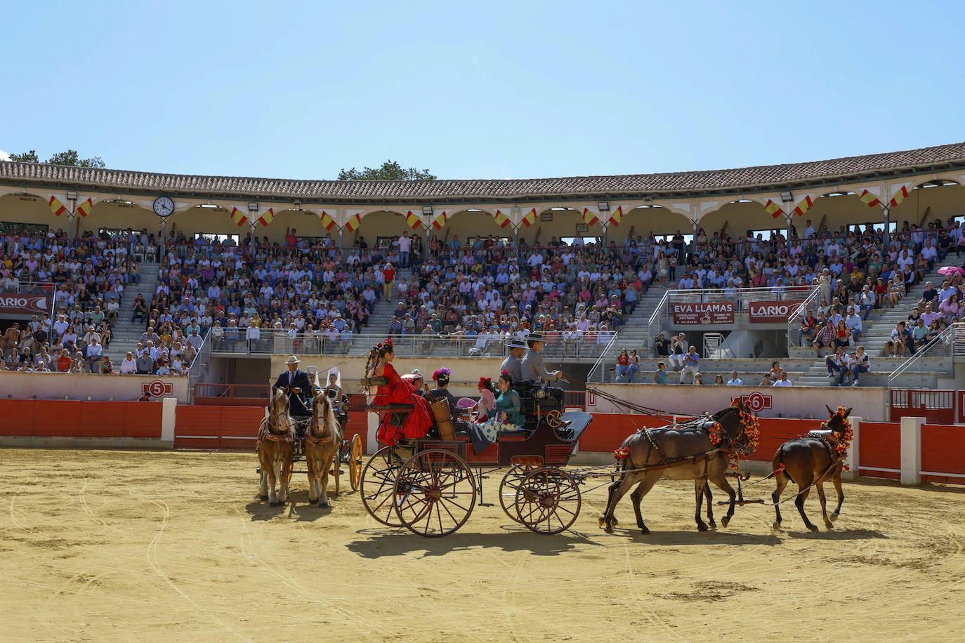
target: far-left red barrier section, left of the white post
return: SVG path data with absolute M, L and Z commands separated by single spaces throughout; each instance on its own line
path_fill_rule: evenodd
M 0 400 L 0 435 L 62 438 L 160 438 L 155 402 Z

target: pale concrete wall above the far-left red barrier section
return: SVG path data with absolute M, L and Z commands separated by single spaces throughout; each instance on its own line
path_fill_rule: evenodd
M 153 375 L 95 375 L 91 373 L 17 373 L 0 371 L 0 391 L 7 399 L 136 400 L 141 385 L 160 381 L 171 385 L 166 397 L 187 404 L 186 377 Z

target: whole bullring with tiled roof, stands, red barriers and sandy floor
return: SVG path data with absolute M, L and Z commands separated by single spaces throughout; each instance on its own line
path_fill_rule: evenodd
M 791 166 L 516 181 L 296 181 L 0 162 L 0 240 L 19 266 L 5 264 L 19 272 L 4 275 L 4 330 L 14 322 L 30 328 L 44 313 L 55 319 L 63 307 L 84 325 L 78 330 L 111 338 L 97 359 L 85 353 L 97 341 L 68 326 L 57 331 L 57 322 L 5 344 L 14 351 L 0 371 L 7 392 L 0 399 L 3 637 L 957 638 L 965 621 L 961 319 L 943 316 L 914 355 L 889 355 L 883 342 L 919 297 L 925 301 L 926 281 L 942 282 L 943 266 L 962 263 L 963 184 L 965 144 Z M 814 236 L 806 221 L 818 228 Z M 923 256 L 921 275 L 908 273 L 907 294 L 894 306 L 869 305 L 864 341 L 872 370 L 837 364 L 832 373 L 827 346 L 797 335 L 802 314 L 821 308 L 824 288 L 846 292 L 831 239 L 846 239 L 851 245 L 842 250 L 865 256 L 863 266 L 852 266 L 862 278 L 872 269 L 900 276 L 887 261 L 874 266 L 873 254 L 892 244 L 917 249 L 919 233 L 940 240 L 942 259 Z M 433 246 L 433 235 L 441 243 Z M 640 245 L 638 235 L 646 237 Z M 413 236 L 422 249 L 401 252 L 400 238 Z M 18 259 L 25 243 L 26 253 L 37 251 L 36 263 Z M 927 240 L 921 245 L 930 248 Z M 802 261 L 787 272 L 792 284 L 778 284 L 781 268 L 797 265 L 786 261 L 788 249 L 813 264 Z M 676 279 L 660 272 L 664 251 L 681 262 Z M 764 255 L 780 259 L 776 271 Z M 85 268 L 88 257 L 107 269 Z M 731 266 L 735 257 L 751 269 Z M 575 274 L 566 281 L 568 261 L 581 263 L 586 281 Z M 554 267 L 544 272 L 544 262 Z M 704 263 L 698 280 L 707 281 L 684 283 Z M 835 272 L 822 276 L 825 265 Z M 219 275 L 215 268 L 225 266 L 231 270 Z M 520 288 L 509 276 L 498 281 L 504 266 L 522 273 L 513 281 Z M 763 276 L 765 267 L 767 279 L 754 281 L 755 268 Z M 733 281 L 711 281 L 721 271 Z M 81 274 L 84 281 L 75 281 Z M 953 275 L 951 290 L 965 286 L 965 277 Z M 400 287 L 400 279 L 413 283 Z M 537 296 L 537 286 L 554 280 L 561 292 Z M 467 294 L 472 285 L 459 291 L 463 282 L 482 298 Z M 441 289 L 431 290 L 433 283 Z M 589 317 L 586 309 L 598 308 L 593 319 L 577 311 L 584 284 L 579 309 Z M 135 321 L 139 289 L 151 309 Z M 363 294 L 369 290 L 371 300 Z M 113 321 L 99 308 L 112 294 L 120 311 Z M 433 326 L 420 309 L 436 300 L 430 308 L 451 324 Z M 571 312 L 563 306 L 570 301 Z M 761 302 L 770 313 L 759 314 Z M 403 319 L 394 317 L 397 309 Z M 407 328 L 409 318 L 422 330 Z M 156 334 L 146 328 L 152 321 Z M 542 341 L 532 339 L 537 332 Z M 703 356 L 701 388 L 682 384 L 694 374 L 686 368 L 658 380 L 657 362 L 666 359 L 658 337 L 671 333 L 687 335 Z M 455 423 L 450 438 L 414 446 L 400 439 L 397 457 L 411 462 L 420 449 L 439 447 L 436 460 L 382 478 L 401 507 L 395 515 L 415 512 L 411 529 L 373 520 L 364 471 L 361 489 L 350 484 L 352 469 L 376 461 L 386 435 L 400 436 L 383 429 L 402 426 L 420 406 L 378 401 L 389 376 L 373 375 L 371 366 L 384 367 L 387 335 L 395 342 L 393 368 L 412 377 L 412 369 L 427 376 L 451 367 L 449 390 L 470 403 L 480 397 L 480 378 L 498 378 L 513 340 L 544 345 L 547 374 L 563 374 L 554 386 L 520 383 L 520 424 L 475 453 L 475 434 L 459 428 L 468 423 L 457 414 L 432 415 L 440 435 L 445 421 Z M 149 349 L 150 360 L 141 362 L 140 341 L 152 342 L 156 360 Z M 57 355 L 58 345 L 84 348 L 60 368 L 59 358 L 40 357 Z M 627 366 L 621 348 L 640 353 L 638 371 L 620 368 Z M 138 360 L 125 360 L 127 351 L 140 351 Z M 104 357 L 113 372 L 104 372 Z M 119 374 L 128 360 L 131 372 Z M 329 480 L 328 508 L 310 504 L 304 461 L 295 463 L 289 498 L 273 506 L 258 494 L 256 443 L 262 419 L 271 432 L 269 384 L 287 362 L 315 366 L 321 379 L 338 367 L 348 414 L 340 428 L 346 443 L 358 436 L 364 451 L 338 466 L 340 493 Z M 769 379 L 775 362 L 781 368 Z M 739 385 L 711 384 L 731 372 L 743 378 Z M 853 385 L 845 381 L 850 374 Z M 783 442 L 830 422 L 825 405 L 832 414 L 840 407 L 853 425 L 853 438 L 815 442 L 832 458 L 825 472 L 843 476 L 841 516 L 822 521 L 811 493 L 805 509 L 818 527 L 807 529 L 791 485 L 775 528 L 774 481 L 764 476 Z M 731 436 L 723 418 L 735 408 L 740 423 Z M 605 533 L 598 518 L 623 440 L 705 412 L 723 415 L 688 430 L 723 445 L 647 462 L 676 468 L 687 458 L 709 463 L 739 451 L 740 469 L 751 474 L 743 498 L 763 502 L 738 505 L 726 526 L 726 507 L 714 504 L 716 528 L 698 531 L 694 486 L 664 480 L 643 499 L 649 534 L 635 525 L 629 495 L 617 507 L 614 533 Z M 759 435 L 755 428 L 741 446 L 752 424 Z M 445 475 L 460 467 L 475 475 L 478 467 L 485 477 L 459 479 L 476 490 L 475 507 L 452 529 L 439 512 L 439 528 L 449 533 L 426 538 L 413 533 L 431 525 L 420 524 L 426 515 L 413 509 L 412 490 L 425 492 L 427 506 L 446 494 L 414 481 L 445 458 L 456 462 Z M 510 465 L 529 469 L 506 500 L 500 482 Z M 588 475 L 591 469 L 599 475 Z M 532 476 L 539 471 L 572 488 L 538 496 Z M 825 489 L 833 508 L 830 482 Z M 727 497 L 712 492 L 714 503 Z M 504 511 L 500 498 L 515 509 Z M 540 533 L 548 520 L 519 513 L 574 498 L 572 522 L 559 533 Z

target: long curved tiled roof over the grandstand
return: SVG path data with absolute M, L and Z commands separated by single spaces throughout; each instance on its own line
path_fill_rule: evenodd
M 863 175 L 879 172 L 913 174 L 943 164 L 965 166 L 965 143 L 733 170 L 433 181 L 329 181 L 199 176 L 0 162 L 0 182 L 24 185 L 41 183 L 124 194 L 274 197 L 280 200 L 305 201 L 525 201 L 553 197 L 595 198 L 618 194 L 663 196 L 774 190 L 786 185 L 834 182 L 839 178 L 842 179 L 841 182 L 844 182 L 844 179 L 856 180 Z

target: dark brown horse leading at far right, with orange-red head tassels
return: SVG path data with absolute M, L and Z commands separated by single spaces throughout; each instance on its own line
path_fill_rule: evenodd
M 841 504 L 844 502 L 844 492 L 841 490 L 841 470 L 844 469 L 844 456 L 847 455 L 847 448 L 851 445 L 851 422 L 847 416 L 851 414 L 851 409 L 838 407 L 838 411 L 832 411 L 831 407 L 825 405 L 831 417 L 821 426 L 828 429 L 827 435 L 809 435 L 796 440 L 788 440 L 778 447 L 774 454 L 771 466 L 774 469 L 774 481 L 778 488 L 771 494 L 774 502 L 774 511 L 777 520 L 774 521 L 774 528 L 781 528 L 781 507 L 778 501 L 784 492 L 788 482 L 797 483 L 798 495 L 794 498 L 794 505 L 801 514 L 805 526 L 812 531 L 817 531 L 817 526 L 808 520 L 804 513 L 804 501 L 808 497 L 811 486 L 817 488 L 817 497 L 821 500 L 821 516 L 824 517 L 824 524 L 830 529 L 832 522 L 838 520 L 841 513 Z M 838 491 L 838 507 L 828 518 L 828 510 L 824 497 L 824 483 L 828 480 L 834 484 Z

